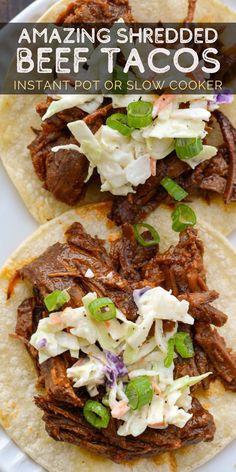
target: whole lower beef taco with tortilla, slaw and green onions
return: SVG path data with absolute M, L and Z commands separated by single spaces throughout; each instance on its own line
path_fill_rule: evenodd
M 191 471 L 236 434 L 236 254 L 202 222 L 178 240 L 168 209 L 110 210 L 41 226 L 2 269 L 0 422 L 50 472 Z

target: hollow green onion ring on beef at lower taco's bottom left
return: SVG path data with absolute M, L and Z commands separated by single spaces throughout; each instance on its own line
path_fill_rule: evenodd
M 109 410 L 99 402 L 88 400 L 83 408 L 86 421 L 94 428 L 107 428 L 110 421 Z

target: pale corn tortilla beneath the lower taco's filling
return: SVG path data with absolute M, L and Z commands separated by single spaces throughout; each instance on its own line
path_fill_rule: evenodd
M 166 453 L 152 459 L 142 459 L 125 465 L 117 465 L 95 456 L 84 449 L 66 443 L 58 443 L 48 437 L 41 419 L 42 413 L 34 405 L 37 393 L 37 375 L 33 362 L 21 342 L 9 337 L 14 332 L 17 306 L 30 289 L 26 283 L 17 284 L 10 300 L 6 299 L 7 286 L 15 271 L 40 255 L 48 246 L 65 240 L 64 232 L 74 221 L 82 222 L 91 235 L 108 241 L 119 231 L 106 218 L 110 203 L 87 205 L 71 210 L 59 218 L 41 226 L 27 239 L 7 261 L 0 273 L 0 423 L 11 438 L 36 462 L 50 472 L 125 472 L 154 471 L 189 472 L 208 461 L 223 449 L 236 435 L 236 395 L 225 391 L 220 382 L 212 383 L 207 393 L 197 393 L 203 406 L 214 415 L 217 431 L 211 443 L 185 447 L 178 452 Z M 161 235 L 161 251 L 176 243 L 178 235 L 171 230 L 169 210 L 162 207 L 147 220 Z M 228 316 L 228 322 L 220 332 L 229 346 L 236 344 L 236 319 L 234 306 L 236 286 L 236 252 L 227 240 L 204 222 L 198 224 L 200 237 L 205 244 L 205 265 L 210 288 L 220 293 L 216 303 Z M 173 466 L 176 464 L 176 467 Z

